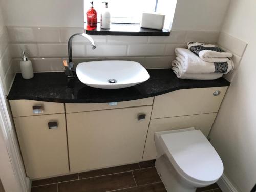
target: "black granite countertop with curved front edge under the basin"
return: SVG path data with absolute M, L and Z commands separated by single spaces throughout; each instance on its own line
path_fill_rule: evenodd
M 16 74 L 9 100 L 29 99 L 65 103 L 119 102 L 153 97 L 179 89 L 229 86 L 224 79 L 179 79 L 171 69 L 147 70 L 150 79 L 137 86 L 122 89 L 98 89 L 86 86 L 77 78 L 67 82 L 62 72 L 35 73 L 29 80 Z

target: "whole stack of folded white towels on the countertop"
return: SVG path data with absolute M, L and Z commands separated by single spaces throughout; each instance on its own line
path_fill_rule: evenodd
M 232 53 L 212 44 L 188 42 L 188 49 L 176 48 L 172 69 L 178 78 L 218 79 L 233 69 Z

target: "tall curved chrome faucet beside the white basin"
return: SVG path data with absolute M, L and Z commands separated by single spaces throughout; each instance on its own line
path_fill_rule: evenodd
M 65 70 L 64 70 L 65 74 L 69 78 L 74 77 L 74 63 L 73 63 L 73 57 L 72 57 L 72 41 L 73 41 L 74 36 L 77 36 L 77 35 L 86 38 L 90 42 L 92 49 L 96 48 L 95 42 L 92 39 L 92 37 L 90 37 L 89 35 L 87 35 L 85 33 L 76 33 L 69 38 L 69 41 L 68 41 L 69 62 L 67 62 L 66 60 L 63 61 L 63 65 L 65 67 Z

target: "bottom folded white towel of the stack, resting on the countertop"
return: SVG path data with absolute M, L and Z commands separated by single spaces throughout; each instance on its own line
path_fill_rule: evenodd
M 222 73 L 184 73 L 182 65 L 177 60 L 172 62 L 172 69 L 180 79 L 213 80 L 222 77 Z

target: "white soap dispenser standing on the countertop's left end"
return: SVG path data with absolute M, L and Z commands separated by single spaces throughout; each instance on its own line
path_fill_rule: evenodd
M 34 77 L 32 62 L 26 56 L 25 51 L 22 51 L 22 61 L 20 61 L 19 67 L 24 79 L 31 79 Z

